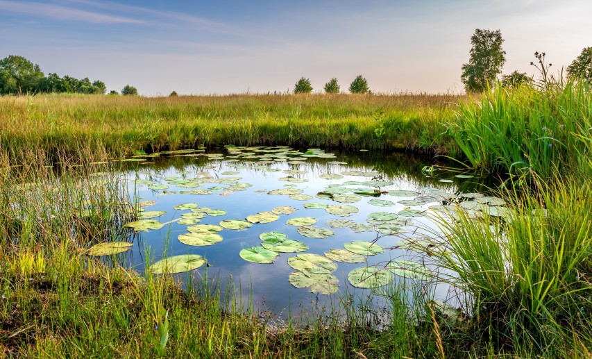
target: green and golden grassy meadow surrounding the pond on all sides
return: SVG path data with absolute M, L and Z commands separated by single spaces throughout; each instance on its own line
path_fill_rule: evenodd
M 0 355 L 589 358 L 590 88 L 494 90 L 0 97 Z M 217 283 L 178 283 L 83 255 L 124 238 L 121 224 L 137 215 L 117 167 L 99 180 L 89 175 L 104 168 L 91 162 L 224 144 L 445 155 L 491 176 L 513 174 L 498 189 L 510 212 L 505 220 L 441 217 L 448 251 L 437 260 L 457 275 L 440 280 L 466 293 L 462 315 L 451 320 L 420 292 L 409 301 L 390 287 L 381 328 L 371 301 L 340 297 L 341 312 L 275 322 L 237 305 L 236 292 Z

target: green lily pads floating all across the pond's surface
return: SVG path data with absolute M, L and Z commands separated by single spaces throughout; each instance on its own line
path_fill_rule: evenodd
M 192 194 L 192 195 L 210 195 L 218 194 L 227 196 L 232 192 L 244 191 L 251 184 L 239 183 L 242 179 L 239 169 L 248 168 L 247 162 L 251 163 L 254 169 L 280 172 L 282 169 L 273 168 L 278 162 L 288 162 L 290 165 L 305 164 L 308 158 L 335 158 L 332 153 L 325 153 L 321 149 L 309 149 L 307 151 L 297 151 L 290 147 L 233 147 L 227 146 L 228 155 L 221 153 L 205 153 L 204 149 L 182 150 L 182 151 L 164 151 L 153 153 L 147 156 L 135 156 L 128 159 L 135 162 L 150 162 L 151 158 L 163 154 L 171 156 L 205 156 L 210 160 L 224 160 L 228 167 L 236 171 L 225 171 L 214 176 L 210 172 L 178 172 L 176 176 L 163 178 L 164 183 L 149 179 L 135 179 L 135 185 L 146 185 L 149 189 L 155 191 L 157 195 L 165 194 Z M 346 165 L 345 162 L 331 161 L 332 165 Z M 203 170 L 214 169 L 213 166 L 202 167 Z M 337 217 L 350 217 L 359 212 L 359 209 L 352 205 L 368 199 L 366 203 L 371 206 L 384 208 L 382 211 L 371 212 L 366 223 L 357 223 L 346 218 L 330 219 L 325 222 L 323 228 L 317 224 L 318 220 L 314 217 L 291 217 L 287 219 L 286 224 L 297 227 L 297 232 L 304 237 L 323 239 L 335 235 L 330 228 L 349 228 L 357 233 L 373 232 L 374 236 L 380 235 L 400 235 L 405 233 L 406 226 L 414 224 L 415 217 L 422 217 L 427 212 L 441 212 L 446 215 L 455 215 L 459 211 L 465 211 L 468 215 L 478 217 L 482 213 L 492 216 L 504 216 L 507 212 L 503 206 L 505 203 L 497 197 L 487 197 L 483 194 L 453 194 L 433 187 L 422 187 L 416 191 L 387 189 L 394 185 L 391 181 L 379 181 L 379 172 L 374 171 L 343 171 L 339 174 L 325 173 L 319 178 L 327 181 L 337 181 L 344 179 L 345 176 L 360 177 L 360 181 L 344 181 L 342 183 L 328 183 L 323 190 L 316 194 L 306 194 L 304 190 L 298 188 L 296 183 L 305 183 L 308 180 L 301 178 L 300 175 L 307 172 L 298 169 L 283 170 L 286 176 L 278 178 L 278 181 L 286 182 L 283 188 L 276 190 L 257 190 L 255 192 L 267 193 L 272 196 L 288 196 L 296 201 L 306 201 L 303 208 L 307 210 L 324 210 L 330 215 Z M 191 178 L 186 178 L 191 176 Z M 470 175 L 459 175 L 459 178 L 471 178 Z M 447 180 L 448 181 L 448 180 Z M 169 191 L 169 187 L 174 185 L 179 192 Z M 207 187 L 207 188 L 205 188 Z M 158 192 L 162 191 L 162 192 Z M 315 191 L 316 192 L 316 191 Z M 314 199 L 316 197 L 316 199 Z M 324 201 L 318 201 L 318 199 Z M 327 202 L 330 201 L 330 202 Z M 137 220 L 127 223 L 124 226 L 133 228 L 134 231 L 158 230 L 165 224 L 157 219 L 166 212 L 146 210 L 153 206 L 156 201 L 138 201 L 134 209 L 137 212 Z M 403 205 L 403 210 L 389 212 L 388 208 Z M 223 236 L 219 232 L 223 229 L 244 231 L 251 228 L 253 224 L 267 224 L 276 222 L 281 215 L 292 215 L 298 209 L 291 206 L 280 206 L 269 211 L 257 212 L 248 215 L 244 219 L 222 219 L 219 224 L 200 224 L 201 219 L 205 217 L 217 217 L 226 215 L 226 211 L 199 207 L 198 203 L 190 202 L 179 204 L 174 207 L 177 211 L 189 211 L 180 215 L 180 218 L 171 222 L 187 226 L 187 233 L 178 236 L 178 240 L 189 246 L 211 246 L 223 241 Z M 280 257 L 280 253 L 297 253 L 288 258 L 287 262 L 296 272 L 290 274 L 289 283 L 298 288 L 308 288 L 311 292 L 321 294 L 330 294 L 337 291 L 339 281 L 332 273 L 337 270 L 336 262 L 362 263 L 367 262 L 368 256 L 383 253 L 384 248 L 380 247 L 375 241 L 353 241 L 344 244 L 342 249 L 330 249 L 323 255 L 314 253 L 302 253 L 309 250 L 304 242 L 289 239 L 287 235 L 280 232 L 266 232 L 260 234 L 260 245 L 251 248 L 244 248 L 239 252 L 239 256 L 249 262 L 259 264 L 271 264 Z M 97 244 L 89 251 L 92 256 L 105 256 L 115 253 L 121 253 L 128 250 L 131 244 L 126 242 L 111 242 Z M 434 247 L 430 241 L 426 240 L 400 240 L 398 248 L 412 251 L 426 252 Z M 163 258 L 151 265 L 151 270 L 155 273 L 164 272 L 184 272 L 200 267 L 205 263 L 205 258 L 196 254 L 184 256 L 172 256 Z M 393 274 L 405 276 L 418 280 L 430 278 L 431 272 L 428 267 L 412 260 L 394 260 L 382 267 L 364 265 L 349 272 L 347 278 L 351 285 L 355 287 L 369 288 L 388 284 Z

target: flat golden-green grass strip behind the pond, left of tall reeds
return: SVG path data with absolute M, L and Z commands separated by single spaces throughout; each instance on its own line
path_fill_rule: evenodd
M 51 156 L 102 147 L 125 155 L 139 149 L 287 144 L 294 147 L 398 149 L 457 153 L 443 122 L 453 95 L 232 95 L 0 97 L 0 147 Z

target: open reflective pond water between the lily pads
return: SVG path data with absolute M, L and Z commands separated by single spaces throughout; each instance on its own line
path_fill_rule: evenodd
M 260 148 L 263 151 L 273 151 L 276 148 Z M 165 223 L 180 218 L 183 213 L 189 213 L 190 210 L 175 210 L 174 206 L 181 203 L 198 203 L 200 207 L 225 210 L 226 215 L 206 216 L 200 219 L 199 224 L 218 225 L 223 219 L 244 220 L 248 215 L 257 212 L 270 211 L 278 206 L 291 206 L 297 211 L 291 215 L 280 215 L 276 222 L 268 224 L 253 224 L 246 230 L 235 231 L 223 229 L 218 234 L 223 237 L 222 242 L 215 243 L 207 247 L 192 247 L 179 242 L 178 236 L 187 233 L 187 225 L 172 222 L 165 225 L 158 231 L 149 231 L 148 233 L 139 232 L 131 235 L 134 240 L 134 247 L 128 254 L 130 264 L 138 271 L 144 269 L 146 254 L 149 262 L 160 260 L 164 256 L 176 256 L 180 254 L 193 253 L 203 256 L 208 260 L 208 267 L 203 266 L 195 271 L 180 274 L 187 280 L 188 276 L 193 276 L 196 281 L 203 281 L 207 276 L 210 283 L 219 286 L 224 291 L 227 288 L 228 278 L 232 278 L 237 292 L 235 295 L 242 301 L 246 307 L 251 301 L 256 309 L 270 310 L 276 314 L 285 315 L 287 312 L 299 312 L 303 308 L 308 308 L 310 303 L 328 303 L 336 301 L 337 297 L 348 297 L 353 294 L 354 297 L 367 297 L 370 290 L 355 288 L 348 283 L 348 273 L 357 268 L 366 265 L 377 265 L 384 267 L 389 260 L 400 258 L 412 259 L 417 262 L 423 262 L 430 266 L 429 256 L 426 253 L 414 253 L 403 251 L 401 249 L 390 249 L 395 247 L 399 240 L 405 237 L 414 237 L 418 233 L 430 233 L 436 231 L 434 223 L 427 217 L 409 218 L 409 226 L 403 227 L 404 232 L 397 235 L 381 235 L 376 231 L 356 233 L 350 228 L 330 228 L 335 235 L 324 239 L 315 239 L 304 237 L 297 231 L 296 226 L 286 224 L 288 219 L 294 217 L 314 217 L 318 222 L 314 226 L 328 228 L 325 225 L 330 219 L 350 219 L 353 222 L 367 224 L 366 219 L 371 212 L 394 212 L 397 213 L 405 208 L 417 210 L 428 210 L 430 206 L 443 204 L 442 201 L 421 204 L 419 206 L 405 206 L 398 203 L 400 200 L 414 199 L 414 197 L 396 197 L 391 194 L 382 194 L 380 197 L 362 197 L 355 203 L 336 203 L 330 199 L 319 199 L 315 197 L 318 192 L 323 192 L 329 185 L 342 184 L 346 181 L 389 181 L 391 185 L 382 186 L 381 191 L 389 190 L 412 190 L 420 195 L 429 194 L 434 189 L 443 190 L 452 194 L 467 192 L 485 192 L 493 183 L 487 183 L 484 178 L 457 178 L 454 172 L 422 172 L 425 166 L 433 165 L 433 162 L 410 158 L 401 153 L 372 153 L 372 152 L 354 152 L 346 153 L 339 151 L 327 151 L 333 154 L 334 158 L 328 154 L 319 157 L 301 157 L 298 154 L 285 154 L 285 152 L 261 153 L 253 152 L 253 149 L 243 150 L 240 156 L 237 151 L 228 153 L 226 149 L 208 150 L 205 152 L 194 153 L 165 153 L 158 157 L 148 158 L 147 161 L 153 164 L 140 164 L 132 162 L 128 164 L 128 172 L 125 173 L 128 178 L 128 186 L 132 198 L 137 201 L 156 201 L 153 206 L 146 207 L 146 211 L 162 210 L 165 215 L 155 218 Z M 286 151 L 280 149 L 280 151 Z M 304 153 L 306 150 L 301 151 Z M 210 158 L 202 156 L 221 153 L 223 157 L 212 156 Z M 243 154 L 251 153 L 251 154 Z M 258 157 L 253 157 L 258 156 Z M 279 156 L 279 158 L 277 157 Z M 299 160 L 294 162 L 294 158 Z M 267 162 L 268 158 L 269 162 Z M 288 159 L 288 160 L 287 160 Z M 263 162 L 262 162 L 263 160 Z M 301 161 L 301 162 L 298 162 Z M 344 162 L 344 163 L 337 163 Z M 296 164 L 294 164 L 296 163 Z M 286 170 L 304 171 L 304 174 L 287 174 Z M 340 179 L 319 178 L 322 174 L 342 174 L 343 172 L 366 172 L 369 176 L 344 175 Z M 228 172 L 238 172 L 238 174 L 224 174 Z M 375 172 L 370 173 L 368 172 Z M 147 179 L 155 183 L 167 184 L 164 178 L 196 178 L 196 174 L 204 177 L 205 174 L 211 176 L 212 180 L 203 183 L 197 188 L 177 187 L 175 184 L 169 184 L 167 190 L 151 190 L 147 185 L 138 185 L 135 180 Z M 294 178 L 303 178 L 306 182 L 291 183 L 280 181 L 279 178 L 293 176 Z M 225 189 L 215 189 L 212 194 L 181 194 L 169 193 L 180 192 L 194 189 L 208 189 L 212 187 L 232 187 L 232 182 L 225 181 L 224 178 L 240 177 L 236 183 L 251 185 L 243 191 L 228 191 Z M 451 181 L 442 182 L 441 180 Z M 217 181 L 217 182 L 214 182 Z M 222 181 L 220 183 L 219 181 Z M 303 190 L 303 194 L 309 194 L 314 197 L 307 201 L 298 201 L 289 198 L 287 195 L 270 195 L 270 190 L 288 188 L 285 185 L 291 185 L 294 188 Z M 346 185 L 347 188 L 360 188 L 368 185 Z M 223 194 L 223 195 L 221 195 Z M 371 199 L 388 200 L 394 203 L 394 206 L 379 207 L 373 206 L 368 202 Z M 348 217 L 337 217 L 331 215 L 324 209 L 307 209 L 305 203 L 324 202 L 330 205 L 348 204 L 355 206 L 359 212 Z M 445 202 L 444 202 L 445 203 Z M 425 212 L 428 214 L 432 211 Z M 298 253 L 280 253 L 280 256 L 273 264 L 256 264 L 247 262 L 239 256 L 239 252 L 245 247 L 259 246 L 261 240 L 259 235 L 264 232 L 282 232 L 289 239 L 304 242 L 310 249 L 305 253 L 323 254 L 330 249 L 343 249 L 346 242 L 357 241 L 376 241 L 384 249 L 384 253 L 375 256 L 368 256 L 366 263 L 343 263 L 337 262 L 337 271 L 333 274 L 339 279 L 339 291 L 337 297 L 331 295 L 321 295 L 311 293 L 307 288 L 298 289 L 293 287 L 289 281 L 289 275 L 295 272 L 291 268 L 287 259 L 296 256 Z M 378 238 L 378 239 L 377 239 Z M 166 252 L 166 253 L 165 253 Z M 395 285 L 401 283 L 402 278 L 394 276 Z M 409 281 L 407 279 L 407 281 Z M 239 290 L 240 288 L 240 290 Z M 430 288 L 434 297 L 439 300 L 446 300 L 450 297 L 449 288 L 446 285 L 438 285 Z

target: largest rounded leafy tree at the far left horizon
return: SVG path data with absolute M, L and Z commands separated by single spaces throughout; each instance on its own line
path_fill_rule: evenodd
M 39 65 L 22 56 L 10 55 L 0 60 L 0 94 L 35 92 L 43 77 Z

